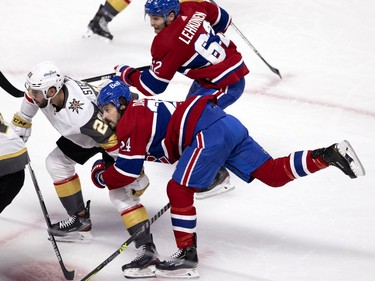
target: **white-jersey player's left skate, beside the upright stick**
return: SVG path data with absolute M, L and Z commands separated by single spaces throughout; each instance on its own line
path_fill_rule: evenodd
M 59 242 L 89 242 L 91 240 L 90 200 L 87 201 L 85 214 L 78 213 L 51 225 L 51 233 Z

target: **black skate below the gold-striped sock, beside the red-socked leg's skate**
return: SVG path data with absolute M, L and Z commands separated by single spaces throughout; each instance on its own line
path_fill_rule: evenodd
M 125 278 L 155 277 L 155 264 L 159 262 L 153 242 L 140 246 L 136 258 L 122 266 Z

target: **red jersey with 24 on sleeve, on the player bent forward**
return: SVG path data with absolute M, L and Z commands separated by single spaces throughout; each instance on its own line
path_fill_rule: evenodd
M 167 164 L 177 161 L 193 140 L 197 124 L 203 128 L 222 117 L 200 119 L 214 99 L 214 96 L 197 96 L 185 102 L 154 99 L 130 102 L 116 126 L 119 155 L 115 164 L 103 173 L 107 187 L 116 189 L 132 183 L 141 174 L 144 161 Z

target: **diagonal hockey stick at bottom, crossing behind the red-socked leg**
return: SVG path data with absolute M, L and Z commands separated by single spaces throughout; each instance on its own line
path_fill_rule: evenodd
M 132 236 L 129 237 L 128 240 L 126 240 L 120 248 L 118 248 L 112 255 L 110 255 L 105 261 L 103 261 L 101 264 L 99 264 L 93 271 L 91 271 L 89 274 L 87 274 L 85 277 L 81 279 L 81 281 L 86 281 L 91 279 L 96 273 L 98 273 L 100 270 L 103 269 L 107 264 L 109 264 L 111 261 L 113 261 L 119 254 L 121 254 L 125 249 L 129 246 L 131 242 L 133 242 L 139 234 L 141 234 L 143 231 L 145 231 L 147 228 L 151 226 L 158 218 L 160 218 L 170 207 L 171 205 L 168 204 L 165 205 L 159 212 L 157 212 L 152 218 L 151 221 L 147 221 L 145 225 L 143 225 L 136 233 L 134 233 Z

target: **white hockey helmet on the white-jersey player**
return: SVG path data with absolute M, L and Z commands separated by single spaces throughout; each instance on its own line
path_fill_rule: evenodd
M 51 87 L 56 88 L 56 94 L 64 85 L 65 76 L 61 73 L 60 69 L 52 62 L 45 61 L 34 66 L 26 77 L 26 88 L 42 91 L 45 99 L 48 97 L 48 89 Z

